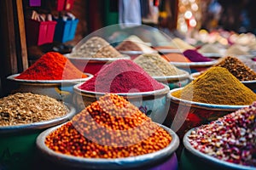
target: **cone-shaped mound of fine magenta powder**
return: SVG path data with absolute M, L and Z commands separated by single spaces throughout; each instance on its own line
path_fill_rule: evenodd
M 102 93 L 149 92 L 164 88 L 130 59 L 118 59 L 97 72 L 79 88 Z

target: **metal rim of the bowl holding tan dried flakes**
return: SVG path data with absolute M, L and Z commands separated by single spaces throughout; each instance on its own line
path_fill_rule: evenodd
M 67 114 L 64 116 L 56 117 L 55 119 L 42 121 L 42 122 L 32 122 L 29 124 L 20 124 L 20 125 L 12 125 L 12 126 L 1 126 L 0 134 L 20 133 L 20 132 L 24 133 L 32 130 L 39 130 L 47 127 L 53 127 L 63 122 L 67 122 L 67 120 L 70 120 L 76 114 L 76 109 L 71 104 L 64 103 L 64 105 L 66 105 L 67 109 L 69 110 Z

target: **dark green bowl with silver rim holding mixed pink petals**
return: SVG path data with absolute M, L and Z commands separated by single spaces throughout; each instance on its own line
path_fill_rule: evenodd
M 248 167 L 235 163 L 230 163 L 228 161 L 222 161 L 218 158 L 209 156 L 207 154 L 202 153 L 199 150 L 195 150 L 195 148 L 189 143 L 189 134 L 193 129 L 190 129 L 184 135 L 183 145 L 184 150 L 181 156 L 181 166 L 183 170 L 190 169 L 232 169 L 232 170 L 249 170 L 256 169 L 256 167 Z

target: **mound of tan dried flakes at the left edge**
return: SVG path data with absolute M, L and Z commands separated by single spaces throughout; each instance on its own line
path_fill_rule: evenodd
M 48 96 L 10 94 L 0 99 L 0 126 L 43 122 L 67 114 L 67 106 Z

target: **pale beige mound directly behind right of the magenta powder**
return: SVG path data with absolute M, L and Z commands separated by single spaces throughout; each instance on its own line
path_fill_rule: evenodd
M 151 77 L 166 77 L 183 75 L 184 71 L 177 69 L 163 59 L 160 54 L 142 54 L 133 60 L 141 66 Z

